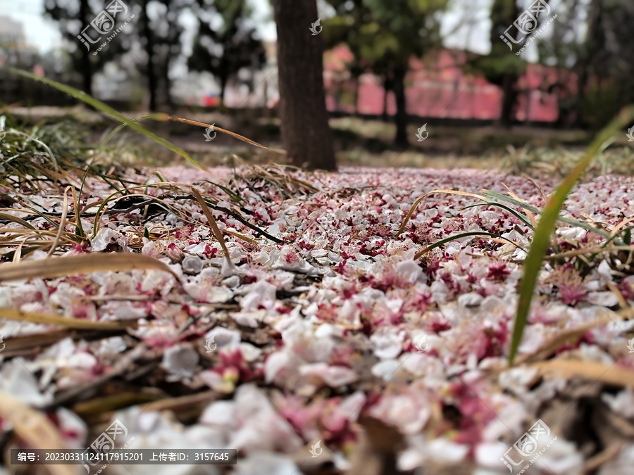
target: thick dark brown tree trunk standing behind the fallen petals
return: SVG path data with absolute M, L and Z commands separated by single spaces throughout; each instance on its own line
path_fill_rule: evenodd
M 323 87 L 323 46 L 310 27 L 316 0 L 273 0 L 282 142 L 293 165 L 335 170 Z

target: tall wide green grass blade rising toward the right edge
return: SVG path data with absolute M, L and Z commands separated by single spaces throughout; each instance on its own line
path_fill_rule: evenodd
M 528 255 L 524 260 L 524 274 L 519 289 L 519 300 L 517 303 L 517 313 L 515 317 L 515 325 L 513 336 L 511 338 L 511 348 L 509 350 L 509 365 L 513 365 L 517 350 L 521 343 L 522 334 L 528 321 L 528 311 L 530 303 L 533 300 L 533 292 L 537 283 L 537 275 L 542 267 L 542 261 L 546 255 L 548 246 L 550 245 L 550 236 L 554 232 L 559 213 L 564 208 L 564 202 L 568 194 L 573 189 L 577 180 L 583 175 L 585 169 L 590 165 L 592 159 L 595 158 L 599 151 L 602 151 L 616 132 L 628 125 L 634 119 L 634 106 L 629 106 L 623 112 L 624 118 L 617 117 L 607 125 L 592 141 L 588 151 L 585 153 L 580 162 L 573 170 L 559 183 L 552 197 L 546 203 L 546 207 L 540 217 L 537 229 L 533 235 L 533 242 L 530 244 Z

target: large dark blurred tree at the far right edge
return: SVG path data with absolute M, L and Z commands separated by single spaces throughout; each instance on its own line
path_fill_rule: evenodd
M 634 102 L 633 22 L 631 1 L 561 1 L 553 33 L 537 44 L 540 63 L 558 67 L 547 91 L 559 93 L 559 125 L 600 129 Z

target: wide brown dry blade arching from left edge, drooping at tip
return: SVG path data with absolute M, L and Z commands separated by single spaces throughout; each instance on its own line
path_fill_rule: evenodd
M 169 272 L 177 280 L 178 275 L 168 265 L 149 255 L 135 253 L 92 253 L 88 255 L 72 255 L 64 258 L 30 260 L 18 264 L 0 265 L 0 282 L 11 280 L 54 279 L 70 274 L 87 274 L 89 272 L 120 271 L 135 269 L 158 269 Z

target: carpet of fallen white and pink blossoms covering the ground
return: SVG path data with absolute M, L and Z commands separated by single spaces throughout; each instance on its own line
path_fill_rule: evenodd
M 505 184 L 542 207 L 530 180 L 483 170 L 344 168 L 294 172 L 318 191 L 289 197 L 261 179 L 230 182 L 229 169 L 160 171 L 170 182 L 196 184 L 220 206 L 228 195 L 203 180 L 240 190 L 249 222 L 285 243 L 214 210 L 220 229 L 255 240 L 223 233 L 232 268 L 208 226 L 166 213 L 139 224 L 144 210 L 137 209 L 105 215 L 95 239 L 63 255 L 143 253 L 166 262 L 180 282 L 160 270 L 133 270 L 1 284 L 0 308 L 137 321 L 115 335 L 66 331 L 37 348 L 0 353 L 0 391 L 45 410 L 66 447 L 87 447 L 119 419 L 134 436 L 128 448 L 233 448 L 238 463 L 108 467 L 115 474 L 506 474 L 505 453 L 541 419 L 550 434 L 537 445 L 546 450 L 526 471 L 632 473 L 631 388 L 545 377 L 526 364 L 507 367 L 526 253 L 467 237 L 413 260 L 425 243 L 469 231 L 501 234 L 528 248 L 528 227 L 499 208 L 461 210 L 478 202 L 473 198 L 437 194 L 421 202 L 397 236 L 427 191 L 506 193 Z M 136 181 L 147 176 L 130 172 Z M 87 201 L 111 192 L 97 179 L 89 184 Z M 546 177 L 540 185 L 548 193 L 555 183 Z M 61 212 L 56 195 L 30 199 Z M 173 204 L 206 223 L 196 201 Z M 634 216 L 634 179 L 580 184 L 566 213 L 610 229 Z M 46 229 L 41 218 L 30 223 Z M 154 227 L 154 234 L 142 238 L 131 226 Z M 92 218 L 84 227 L 92 229 Z M 564 250 L 596 242 L 572 227 L 560 227 L 557 239 Z M 45 256 L 38 251 L 27 260 Z M 616 315 L 619 300 L 608 283 L 634 301 L 634 277 L 615 275 L 605 261 L 583 279 L 572 265 L 545 265 L 520 360 L 562 331 Z M 5 343 L 58 331 L 0 322 Z M 616 318 L 588 327 L 549 359 L 632 369 L 632 327 Z M 2 427 L 10 429 L 6 421 Z M 530 443 L 519 446 L 533 453 Z

